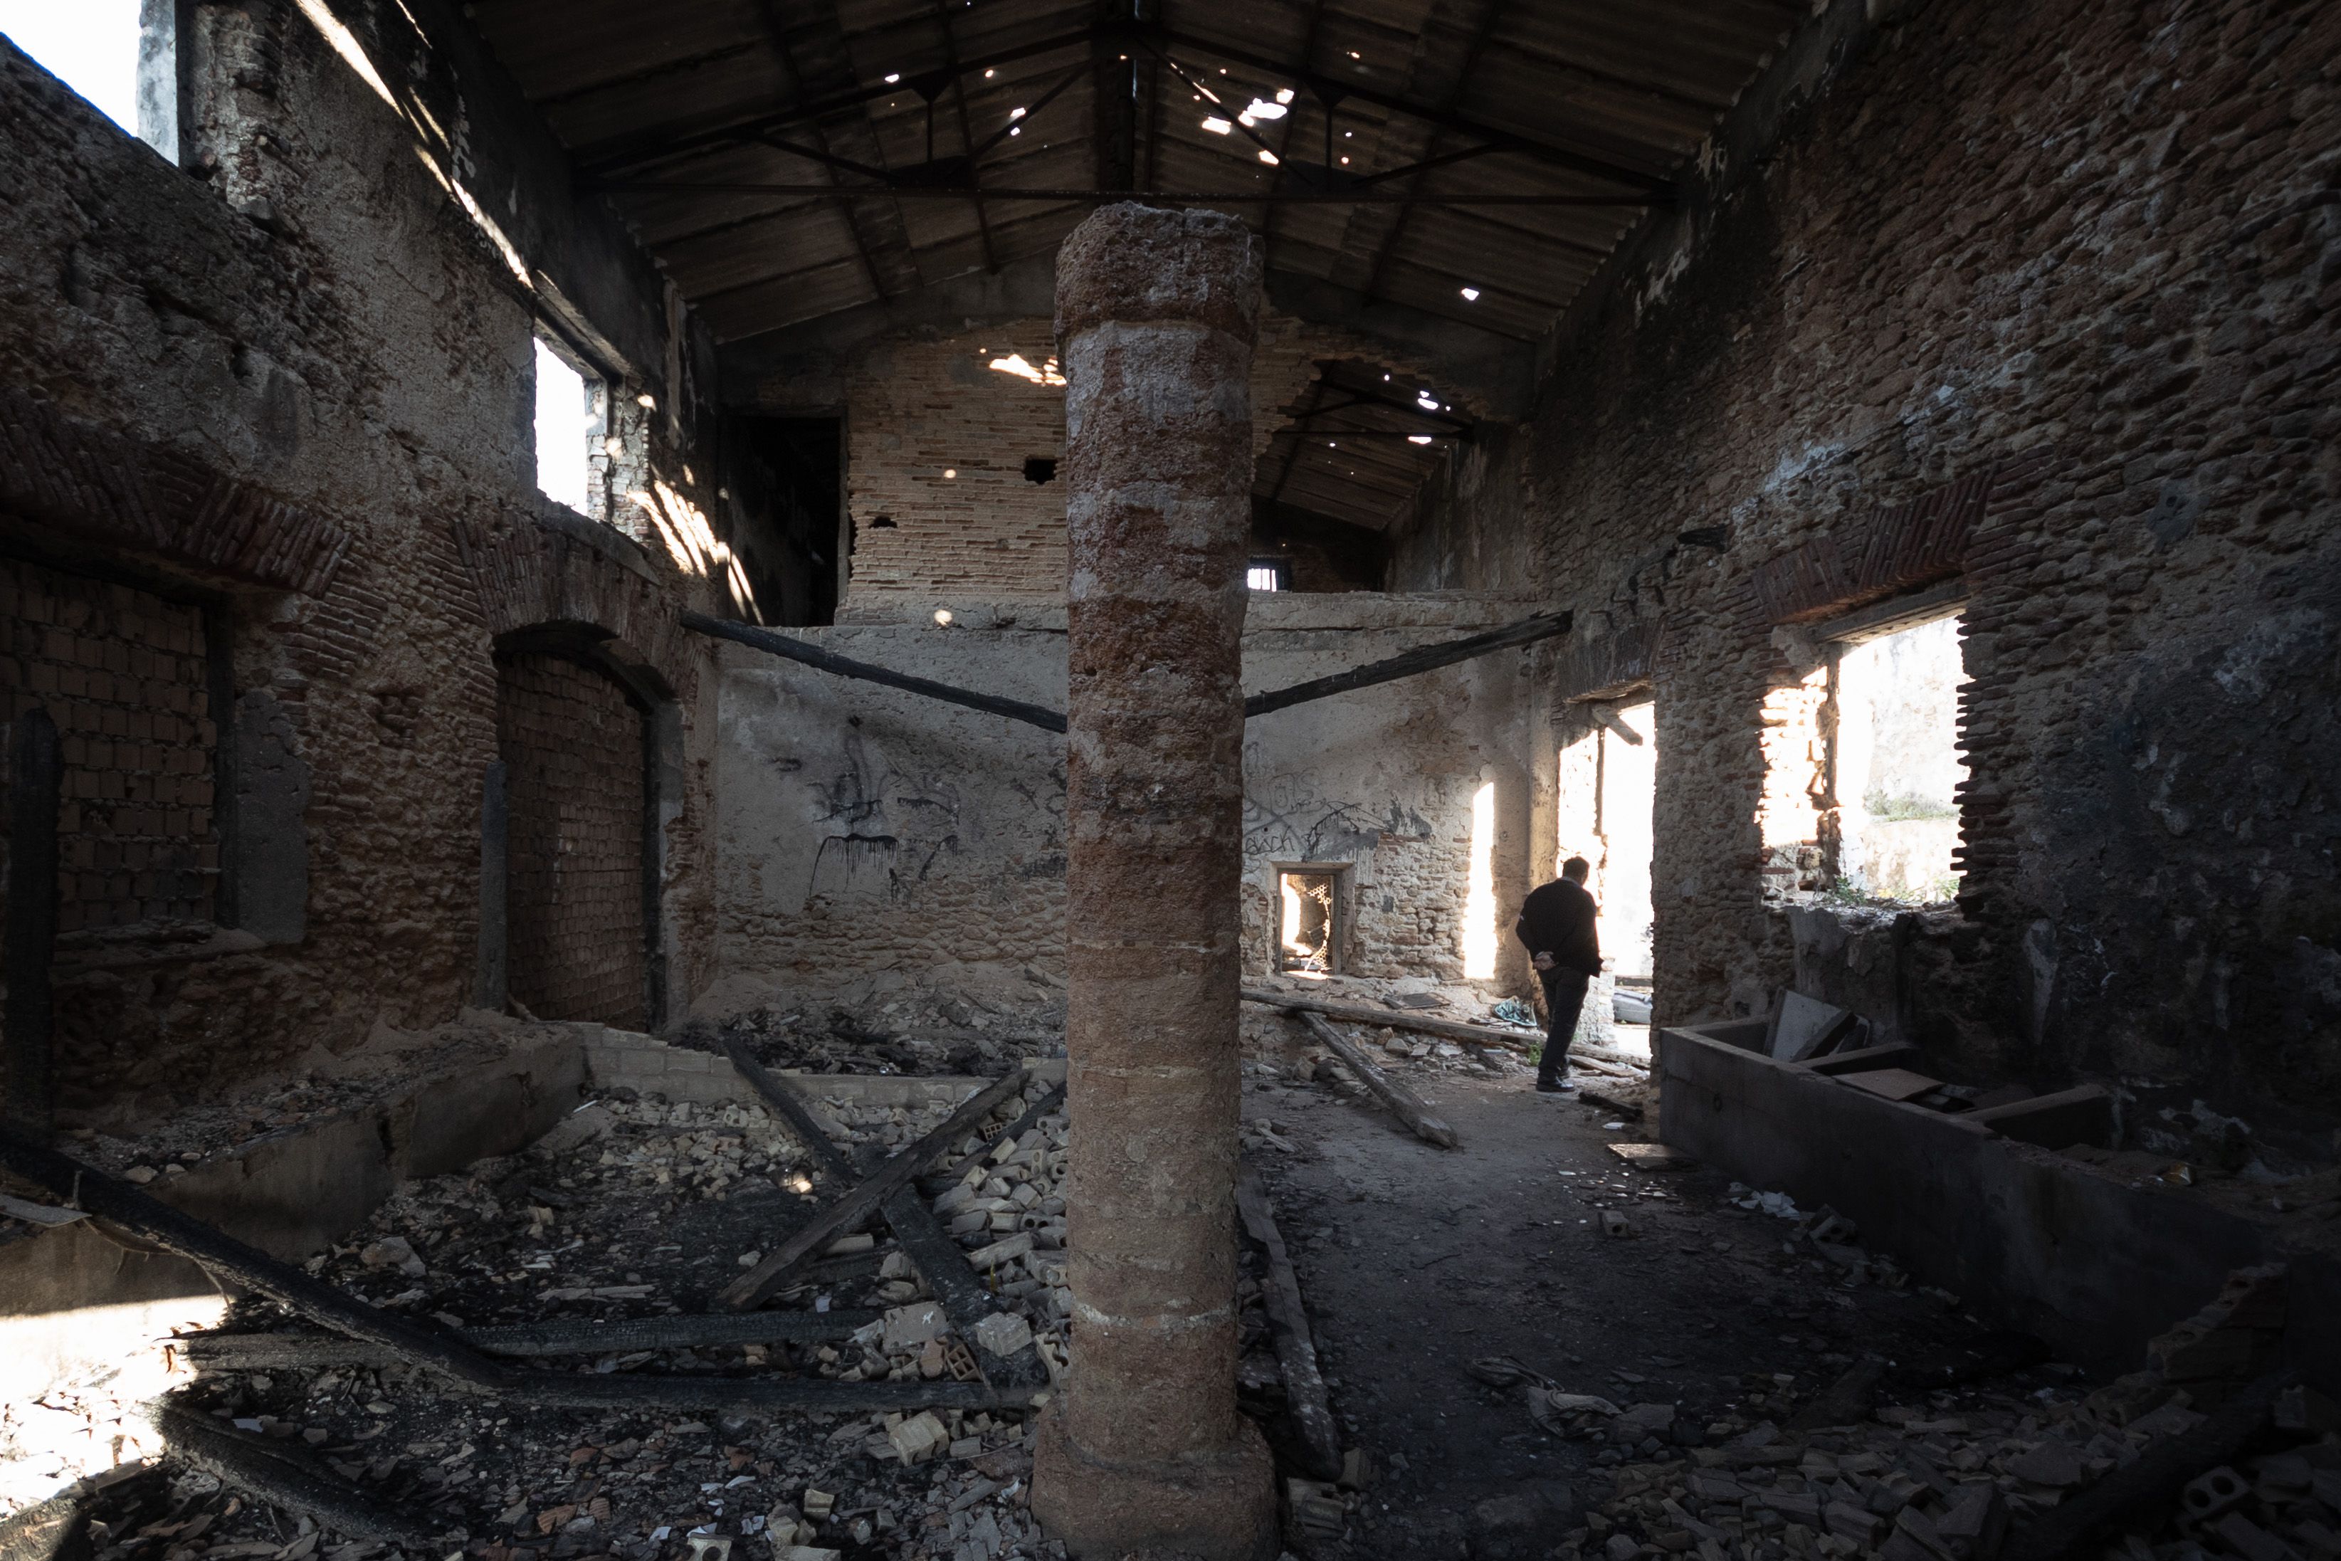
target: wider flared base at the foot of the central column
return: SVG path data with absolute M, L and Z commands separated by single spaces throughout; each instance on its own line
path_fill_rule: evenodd
M 1274 1561 L 1276 1463 L 1259 1428 L 1208 1460 L 1114 1463 L 1065 1432 L 1063 1397 L 1042 1411 L 1032 1517 L 1075 1561 Z

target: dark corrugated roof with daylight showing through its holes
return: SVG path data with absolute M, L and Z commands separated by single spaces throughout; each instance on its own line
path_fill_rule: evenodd
M 1051 253 L 1089 211 L 1091 0 L 468 9 L 719 339 Z M 1110 47 L 1138 63 L 1140 187 L 1339 194 L 1395 173 L 1369 185 L 1374 204 L 1234 211 L 1276 271 L 1533 342 L 1639 218 L 1533 201 L 1664 185 L 1805 14 L 1807 0 L 1140 0 Z M 1234 117 L 1255 98 L 1283 112 L 1245 133 Z M 964 185 L 969 152 L 979 187 L 1028 194 L 887 187 Z M 1377 428 L 1369 412 L 1330 426 Z M 1447 442 L 1334 445 L 1281 435 L 1262 494 L 1388 524 Z

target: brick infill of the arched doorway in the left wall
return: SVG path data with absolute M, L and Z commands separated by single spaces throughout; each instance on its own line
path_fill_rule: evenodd
M 641 711 L 559 655 L 496 665 L 510 810 L 513 997 L 536 1018 L 644 1027 Z

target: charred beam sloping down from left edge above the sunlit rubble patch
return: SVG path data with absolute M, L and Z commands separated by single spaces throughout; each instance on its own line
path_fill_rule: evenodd
M 225 1278 L 246 1290 L 258 1290 L 311 1322 L 344 1332 L 351 1339 L 379 1343 L 407 1364 L 445 1371 L 482 1388 L 501 1388 L 510 1378 L 503 1367 L 454 1334 L 417 1327 L 405 1318 L 342 1294 L 293 1264 L 276 1261 L 227 1231 L 183 1215 L 169 1203 L 150 1198 L 129 1182 L 117 1182 L 73 1156 L 35 1144 L 12 1128 L 0 1128 L 0 1165 L 47 1187 L 66 1208 L 77 1208 L 117 1224 L 131 1236 L 201 1264 L 213 1275 L 213 1283 Z

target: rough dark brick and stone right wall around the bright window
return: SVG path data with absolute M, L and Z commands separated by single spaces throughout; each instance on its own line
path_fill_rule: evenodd
M 2341 12 L 1845 16 L 1749 94 L 1786 103 L 1772 145 L 1718 154 L 1571 325 L 1484 506 L 1480 555 L 1508 538 L 1585 632 L 1662 627 L 1660 1016 L 1791 974 L 1765 733 L 1798 623 L 1964 573 L 1966 878 L 1910 934 L 1917 1030 L 1985 1072 L 2332 1109 Z M 1412 578 L 1487 583 L 1468 510 Z

